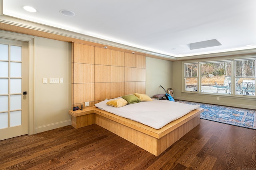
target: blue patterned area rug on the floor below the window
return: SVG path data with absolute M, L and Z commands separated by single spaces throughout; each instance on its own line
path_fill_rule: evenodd
M 182 100 L 177 102 L 184 104 L 199 104 L 200 107 L 204 109 L 204 112 L 200 114 L 201 119 L 256 129 L 256 110 L 186 102 Z

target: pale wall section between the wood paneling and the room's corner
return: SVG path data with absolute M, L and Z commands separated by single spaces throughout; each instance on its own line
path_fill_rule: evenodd
M 146 94 L 150 97 L 172 88 L 172 61 L 146 57 Z

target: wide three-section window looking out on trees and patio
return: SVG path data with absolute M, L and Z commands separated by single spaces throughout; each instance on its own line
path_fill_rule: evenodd
M 255 96 L 256 59 L 184 63 L 184 80 L 185 91 Z

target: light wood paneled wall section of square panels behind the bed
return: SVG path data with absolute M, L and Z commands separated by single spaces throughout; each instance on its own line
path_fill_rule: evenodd
M 146 93 L 146 56 L 73 43 L 72 107 Z

